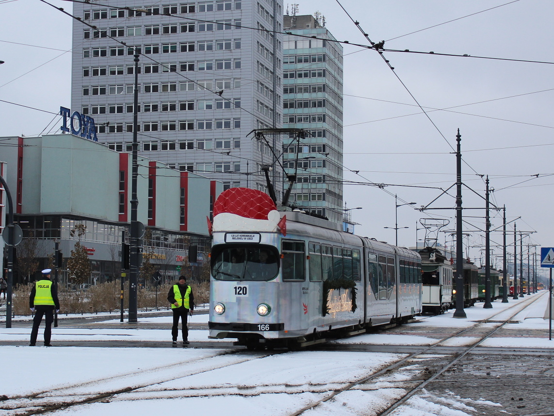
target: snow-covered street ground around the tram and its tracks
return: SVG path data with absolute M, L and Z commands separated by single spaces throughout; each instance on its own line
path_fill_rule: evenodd
M 547 338 L 548 321 L 537 317 L 541 310 L 542 314 L 546 310 L 547 301 L 547 293 L 541 292 L 518 301 L 510 300 L 509 303 L 495 301 L 493 309 L 485 310 L 482 304 L 478 304 L 466 308 L 468 316 L 465 319 L 452 318 L 451 311 L 442 316 L 423 317 L 419 322 L 403 325 L 396 331 L 422 331 L 421 335 L 414 335 L 414 332 L 398 334 L 385 331 L 341 339 L 334 343 L 430 346 L 440 341 L 434 331 L 448 329 L 457 332 L 487 319 L 491 322 L 500 321 L 509 317 L 511 312 L 508 308 L 516 304 L 523 305 L 522 302 L 532 302 L 531 306 L 512 319 L 512 322 L 518 323 L 506 325 L 510 331 L 503 334 L 512 333 L 513 336 L 490 337 L 485 340 L 484 346 L 490 347 L 491 354 L 494 354 L 495 347 L 500 346 L 542 349 L 547 356 L 550 354 L 550 361 L 546 358 L 545 365 L 541 365 L 543 368 L 551 368 L 554 341 L 548 341 Z M 206 314 L 194 315 L 191 322 L 205 323 L 207 317 Z M 119 322 L 119 319 L 112 320 Z M 139 321 L 170 325 L 171 317 L 148 317 Z M 486 328 L 494 323 L 479 325 Z M 168 341 L 170 335 L 168 329 L 131 329 L 123 326 L 119 329 L 86 326 L 63 328 L 63 321 L 60 321 L 60 326 L 53 328 L 54 344 L 92 340 Z M 534 336 L 522 336 L 528 329 Z M 192 330 L 189 333 L 191 347 L 196 341 L 207 341 L 208 331 Z M 430 352 L 411 359 L 401 369 L 380 374 L 371 382 L 362 382 L 352 387 L 350 383 L 375 375 L 399 359 L 406 358 L 407 354 L 344 351 L 247 352 L 217 347 L 28 347 L 29 334 L 30 324 L 27 327 L 0 329 L 0 351 L 4 358 L 0 395 L 9 398 L 0 402 L 0 416 L 25 414 L 33 409 L 39 413 L 45 413 L 49 409 L 45 414 L 79 416 L 151 416 L 180 412 L 182 409 L 189 413 L 225 416 L 291 415 L 329 395 L 334 397 L 303 414 L 374 415 L 386 409 L 389 402 L 402 397 L 413 388 L 416 381 L 424 379 L 431 364 L 439 366 L 445 359 L 441 354 Z M 474 334 L 450 338 L 441 345 L 466 346 L 475 341 L 476 337 L 472 335 Z M 39 332 L 39 342 L 41 338 L 42 330 Z M 7 342 L 21 342 L 21 345 L 8 346 Z M 530 363 L 532 366 L 533 361 Z M 481 365 L 483 364 L 477 364 L 478 367 Z M 468 369 L 460 368 L 459 371 Z M 491 371 L 494 376 L 494 369 L 488 374 Z M 554 368 L 548 371 L 554 377 Z M 546 372 L 543 375 L 548 374 L 550 373 Z M 495 377 L 501 380 L 504 376 L 499 372 Z M 552 378 L 549 380 L 554 381 Z M 343 389 L 346 390 L 342 391 Z M 501 404 L 501 400 L 485 399 L 486 389 L 481 390 L 482 393 L 475 393 L 471 389 L 462 391 L 466 394 L 459 394 L 452 388 L 423 389 L 391 414 L 529 414 L 506 412 L 504 409 L 510 403 Z M 93 400 L 93 403 L 89 403 L 89 400 Z

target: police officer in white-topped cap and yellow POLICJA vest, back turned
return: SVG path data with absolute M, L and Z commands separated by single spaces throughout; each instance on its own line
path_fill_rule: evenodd
M 58 300 L 58 288 L 50 281 L 50 270 L 45 268 L 42 271 L 42 278 L 35 282 L 33 290 L 29 295 L 29 308 L 34 312 L 33 329 L 31 331 L 31 343 L 34 347 L 37 343 L 38 327 L 45 316 L 44 322 L 44 346 L 52 347 L 50 338 L 52 337 L 52 322 L 54 322 L 54 310 L 60 311 L 60 301 Z

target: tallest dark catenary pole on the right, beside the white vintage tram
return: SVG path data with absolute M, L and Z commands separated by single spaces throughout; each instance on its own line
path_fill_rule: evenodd
M 456 310 L 454 318 L 466 318 L 464 311 L 464 247 L 461 212 L 461 135 L 456 134 Z

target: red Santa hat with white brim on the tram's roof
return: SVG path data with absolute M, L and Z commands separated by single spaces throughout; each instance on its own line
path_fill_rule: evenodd
M 208 227 L 212 224 L 208 221 Z M 212 231 L 275 232 L 286 234 L 286 217 L 281 218 L 268 194 L 249 188 L 223 191 L 213 204 Z

